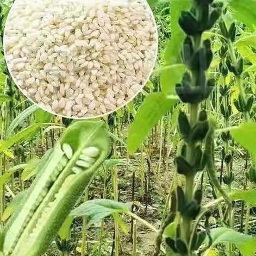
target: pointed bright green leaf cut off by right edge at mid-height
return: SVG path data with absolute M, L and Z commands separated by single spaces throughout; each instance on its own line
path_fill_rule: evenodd
M 231 129 L 230 133 L 233 138 L 252 155 L 256 155 L 256 123 L 248 122 L 242 123 L 238 128 Z

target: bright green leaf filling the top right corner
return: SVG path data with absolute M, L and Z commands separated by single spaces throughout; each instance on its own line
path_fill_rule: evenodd
M 249 28 L 256 24 L 255 0 L 232 0 L 229 6 L 236 20 L 245 23 Z

